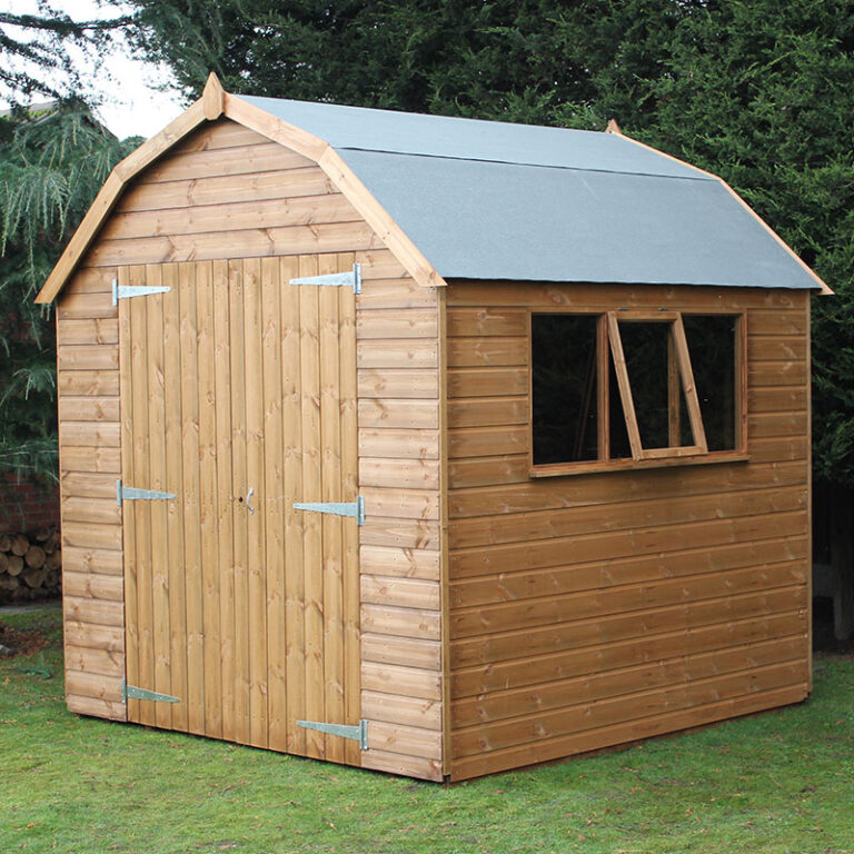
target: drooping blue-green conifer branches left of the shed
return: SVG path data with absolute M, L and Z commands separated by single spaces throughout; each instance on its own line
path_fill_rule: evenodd
M 56 471 L 56 351 L 33 304 L 120 143 L 79 102 L 0 121 L 0 470 Z

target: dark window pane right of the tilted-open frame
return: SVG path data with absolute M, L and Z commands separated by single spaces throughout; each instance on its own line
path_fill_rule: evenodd
M 683 315 L 682 321 L 708 449 L 734 450 L 737 318 L 732 315 Z

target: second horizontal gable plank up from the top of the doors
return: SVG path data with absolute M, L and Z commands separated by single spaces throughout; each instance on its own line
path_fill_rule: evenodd
M 162 235 L 200 235 L 256 228 L 286 228 L 324 222 L 358 222 L 359 215 L 341 193 L 251 201 L 219 201 L 189 208 L 113 214 L 101 240 L 128 240 Z

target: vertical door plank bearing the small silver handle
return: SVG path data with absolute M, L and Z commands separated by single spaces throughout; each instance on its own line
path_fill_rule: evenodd
M 246 360 L 246 489 L 249 592 L 250 743 L 267 746 L 267 583 L 264 525 L 264 357 L 261 341 L 261 262 L 244 261 L 244 332 Z M 249 513 L 249 502 L 255 513 Z

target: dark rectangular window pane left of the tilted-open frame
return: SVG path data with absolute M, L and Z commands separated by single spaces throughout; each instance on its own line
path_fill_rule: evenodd
M 534 464 L 597 459 L 593 315 L 534 315 Z

